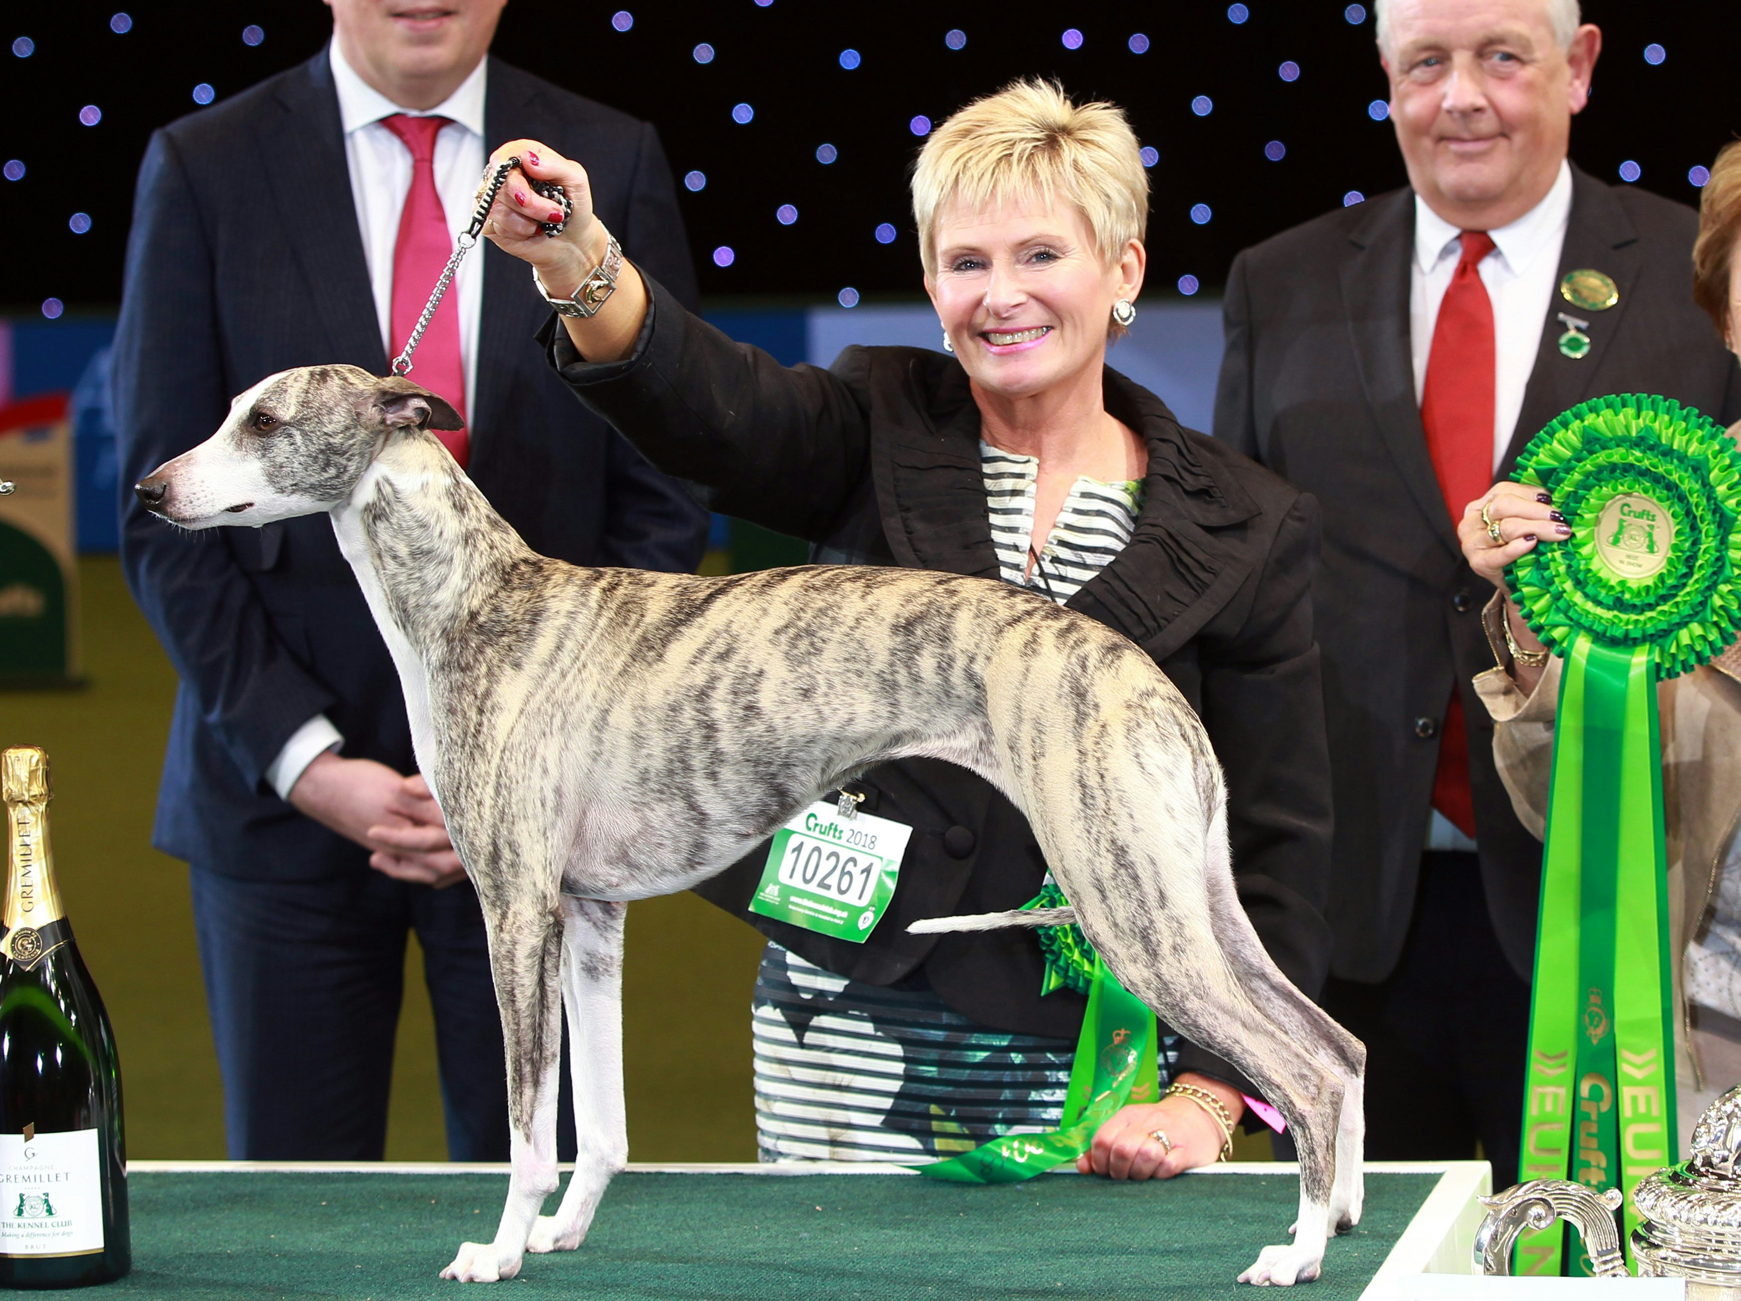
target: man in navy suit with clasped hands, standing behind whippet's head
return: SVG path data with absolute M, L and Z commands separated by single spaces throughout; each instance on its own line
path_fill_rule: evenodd
M 693 300 L 656 134 L 487 57 L 503 3 L 331 0 L 329 49 L 153 136 L 115 347 L 124 484 L 266 374 L 385 374 L 489 141 L 585 158 L 627 254 Z M 416 355 L 416 378 L 468 418 L 449 448 L 536 550 L 693 570 L 705 516 L 550 373 L 533 341 L 545 315 L 524 266 L 489 244 L 467 258 Z M 192 867 L 230 1155 L 383 1155 L 414 930 L 449 1153 L 505 1160 L 477 897 L 331 524 L 188 536 L 124 493 L 122 557 L 181 676 L 153 843 Z

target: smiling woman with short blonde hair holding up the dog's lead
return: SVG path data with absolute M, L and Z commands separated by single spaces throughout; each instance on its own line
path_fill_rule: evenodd
M 545 341 L 580 399 L 716 510 L 810 540 L 818 563 L 1001 578 L 1130 636 L 1203 716 L 1240 897 L 1316 991 L 1330 836 L 1316 509 L 1106 366 L 1146 263 L 1147 174 L 1123 113 L 1018 82 L 942 124 L 912 199 L 945 352 L 846 348 L 827 371 L 778 366 L 684 312 L 599 225 L 580 164 L 534 141 L 508 155 L 575 207 L 545 239 L 552 206 L 512 174 L 486 233 L 561 313 Z M 912 827 L 864 942 L 749 913 L 766 852 L 702 890 L 771 940 L 752 1010 L 764 1160 L 923 1162 L 1055 1129 L 1083 996 L 1041 994 L 1032 932 L 905 932 L 1038 895 L 1027 822 L 940 761 L 883 765 L 850 791 Z M 1226 1149 L 1252 1085 L 1172 1035 L 1161 1082 L 1173 1092 L 1107 1120 L 1081 1169 L 1166 1177 Z

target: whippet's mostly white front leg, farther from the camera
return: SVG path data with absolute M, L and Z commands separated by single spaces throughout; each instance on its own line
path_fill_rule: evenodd
M 575 1174 L 526 1250 L 575 1250 L 611 1176 L 629 1163 L 623 1116 L 623 916 L 629 904 L 562 899 L 562 1005 L 575 1078 Z

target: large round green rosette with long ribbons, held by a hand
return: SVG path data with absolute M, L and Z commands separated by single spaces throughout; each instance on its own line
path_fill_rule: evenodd
M 1692 408 L 1626 394 L 1558 416 L 1516 481 L 1572 528 L 1506 571 L 1563 658 L 1522 1170 L 1619 1186 L 1631 1230 L 1633 1188 L 1678 1149 L 1656 686 L 1741 632 L 1741 455 Z M 1588 1256 L 1567 1261 L 1562 1230 L 1520 1238 L 1520 1273 L 1567 1264 L 1590 1273 Z

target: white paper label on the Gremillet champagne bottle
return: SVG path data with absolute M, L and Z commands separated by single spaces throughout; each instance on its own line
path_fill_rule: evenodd
M 0 1254 L 103 1250 L 97 1132 L 0 1134 Z

